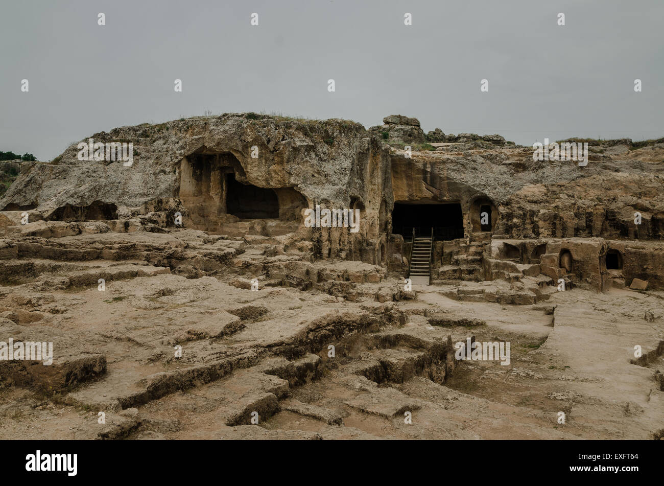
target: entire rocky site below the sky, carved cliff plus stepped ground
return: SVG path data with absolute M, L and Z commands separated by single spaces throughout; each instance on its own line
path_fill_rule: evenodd
M 133 163 L 2 166 L 0 355 L 31 353 L 0 359 L 0 439 L 662 437 L 664 140 L 580 167 L 403 116 L 90 138 Z

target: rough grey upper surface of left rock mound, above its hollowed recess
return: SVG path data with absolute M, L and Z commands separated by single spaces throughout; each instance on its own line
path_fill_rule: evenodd
M 364 169 L 370 159 L 374 157 L 372 163 L 376 157 L 382 159 L 383 170 L 388 164 L 386 151 L 371 143 L 361 125 L 342 120 L 226 114 L 121 127 L 91 137 L 133 142 L 133 165 L 80 161 L 74 143 L 57 163 L 34 163 L 0 205 L 5 210 L 35 206 L 44 218 L 66 204 L 88 206 L 94 201 L 130 211 L 156 199 L 177 198 L 182 177 L 192 177 L 182 173 L 185 157 L 220 155 L 218 165 L 235 169 L 240 182 L 292 188 L 310 202 L 347 206 L 353 197 L 368 199 L 366 185 L 374 181 Z M 253 146 L 258 149 L 256 158 L 251 155 Z M 214 164 L 212 159 L 205 162 Z

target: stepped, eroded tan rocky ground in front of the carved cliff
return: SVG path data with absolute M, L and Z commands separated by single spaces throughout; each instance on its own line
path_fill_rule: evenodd
M 506 282 L 408 291 L 287 237 L 104 226 L 0 240 L 3 339 L 54 343 L 50 366 L 0 362 L 0 439 L 664 434 L 662 291 L 549 286 L 515 305 L 481 298 Z M 469 337 L 509 341 L 510 363 L 458 361 Z

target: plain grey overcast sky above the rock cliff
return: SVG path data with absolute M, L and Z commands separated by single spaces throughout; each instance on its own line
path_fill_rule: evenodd
M 97 131 L 205 110 L 365 127 L 402 114 L 424 131 L 499 133 L 523 145 L 664 136 L 663 0 L 0 5 L 0 151 L 42 161 Z

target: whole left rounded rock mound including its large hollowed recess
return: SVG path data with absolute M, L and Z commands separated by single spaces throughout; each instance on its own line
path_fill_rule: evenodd
M 297 231 L 303 209 L 316 204 L 359 208 L 357 234 L 303 232 L 325 256 L 338 256 L 352 239 L 345 254 L 377 258 L 378 228 L 392 206 L 389 155 L 358 123 L 225 114 L 120 127 L 82 142 L 88 138 L 132 142 L 133 165 L 80 161 L 75 143 L 57 163 L 30 163 L 0 208 L 36 210 L 45 220 L 120 220 L 125 230 L 149 214 L 172 225 L 180 212 L 184 227 L 238 236 Z

